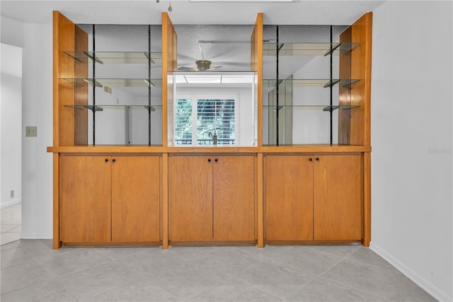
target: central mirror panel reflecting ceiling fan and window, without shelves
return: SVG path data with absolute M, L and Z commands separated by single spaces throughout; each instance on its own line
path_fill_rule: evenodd
M 256 146 L 253 25 L 175 25 L 172 146 Z M 170 106 L 171 107 L 171 106 Z M 169 137 L 172 137 L 171 135 Z

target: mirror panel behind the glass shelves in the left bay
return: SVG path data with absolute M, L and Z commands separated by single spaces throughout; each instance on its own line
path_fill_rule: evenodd
M 79 25 L 88 52 L 68 52 L 88 77 L 88 144 L 161 145 L 161 25 Z M 69 109 L 68 109 L 69 110 Z

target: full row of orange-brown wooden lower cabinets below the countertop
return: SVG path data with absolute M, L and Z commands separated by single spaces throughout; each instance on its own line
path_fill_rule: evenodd
M 282 150 L 60 153 L 52 246 L 369 247 L 364 153 Z

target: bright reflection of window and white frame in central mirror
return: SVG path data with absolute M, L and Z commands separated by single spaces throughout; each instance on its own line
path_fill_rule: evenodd
M 256 146 L 256 74 L 174 74 L 173 146 Z

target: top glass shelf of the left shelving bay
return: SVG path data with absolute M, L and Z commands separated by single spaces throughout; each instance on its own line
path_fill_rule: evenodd
M 64 52 L 77 61 L 99 64 L 162 64 L 161 52 Z

